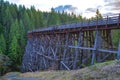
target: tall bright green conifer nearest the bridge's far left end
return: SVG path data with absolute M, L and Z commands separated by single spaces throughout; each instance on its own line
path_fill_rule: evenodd
M 10 34 L 9 34 L 9 53 L 8 56 L 13 61 L 15 65 L 20 64 L 21 62 L 21 48 L 19 46 L 20 40 L 20 28 L 18 20 L 11 24 Z

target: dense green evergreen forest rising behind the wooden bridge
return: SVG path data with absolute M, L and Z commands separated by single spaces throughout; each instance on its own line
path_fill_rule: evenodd
M 99 10 L 96 11 L 97 16 L 102 18 Z M 96 17 L 92 17 L 90 20 L 96 19 Z M 54 8 L 51 8 L 51 12 L 42 12 L 36 10 L 34 6 L 26 8 L 24 5 L 17 6 L 0 0 L 0 54 L 9 58 L 11 70 L 19 70 L 18 67 L 22 64 L 28 31 L 82 20 L 87 20 L 87 18 L 64 11 L 62 13 L 55 12 Z M 120 31 L 114 31 L 113 33 L 115 35 L 113 42 L 117 46 Z

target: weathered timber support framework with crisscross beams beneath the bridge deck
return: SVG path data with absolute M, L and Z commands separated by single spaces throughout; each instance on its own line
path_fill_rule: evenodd
M 110 55 L 114 58 L 112 53 L 115 51 L 104 50 L 113 48 L 110 32 L 97 30 L 34 35 L 28 39 L 23 68 L 25 71 L 73 70 L 107 60 Z

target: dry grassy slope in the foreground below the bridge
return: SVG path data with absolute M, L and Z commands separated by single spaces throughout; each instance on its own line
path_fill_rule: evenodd
M 72 71 L 12 72 L 0 80 L 120 80 L 120 61 L 97 63 Z

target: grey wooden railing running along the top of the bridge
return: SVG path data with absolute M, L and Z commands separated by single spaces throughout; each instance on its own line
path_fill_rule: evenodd
M 54 31 L 54 30 L 61 30 L 61 29 L 70 29 L 70 28 L 82 28 L 82 27 L 92 27 L 96 25 L 109 25 L 109 24 L 115 24 L 119 21 L 120 14 L 115 14 L 113 16 L 101 18 L 99 20 L 86 20 L 82 22 L 72 22 L 69 24 L 61 24 L 61 25 L 53 25 L 51 27 L 42 28 L 42 29 L 35 29 L 32 31 L 29 31 L 28 33 L 32 32 L 44 32 L 44 31 Z

